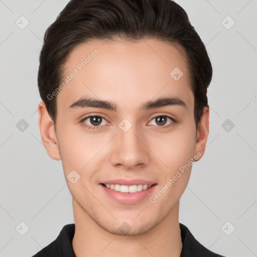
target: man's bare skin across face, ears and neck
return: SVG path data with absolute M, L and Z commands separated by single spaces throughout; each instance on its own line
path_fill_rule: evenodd
M 179 45 L 155 39 L 91 41 L 70 53 L 65 76 L 95 48 L 99 54 L 57 95 L 56 132 L 45 103 L 38 105 L 42 142 L 52 159 L 62 161 L 73 197 L 74 252 L 78 257 L 179 257 L 179 199 L 192 166 L 155 203 L 150 197 L 137 204 L 118 203 L 103 193 L 99 183 L 116 178 L 146 179 L 157 183 L 154 196 L 190 158 L 199 152 L 198 161 L 202 158 L 209 133 L 209 108 L 204 107 L 196 130 L 190 74 Z M 178 81 L 170 76 L 175 67 L 184 73 Z M 119 110 L 69 109 L 84 95 L 113 101 Z M 171 105 L 139 112 L 142 103 L 167 95 L 179 97 L 187 108 Z M 98 129 L 90 130 L 80 123 L 88 114 L 104 116 Z M 168 118 L 161 126 L 155 117 L 162 115 L 177 122 L 168 127 L 173 122 Z M 124 118 L 132 124 L 127 132 L 118 126 Z M 83 122 L 95 124 L 90 118 Z M 67 179 L 72 170 L 80 174 L 75 184 Z M 123 222 L 130 225 L 129 232 L 119 229 Z

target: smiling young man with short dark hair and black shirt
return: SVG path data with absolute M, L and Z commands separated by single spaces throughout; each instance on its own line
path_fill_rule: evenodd
M 205 151 L 211 77 L 175 2 L 68 3 L 45 34 L 38 113 L 75 224 L 34 256 L 221 256 L 178 219 Z

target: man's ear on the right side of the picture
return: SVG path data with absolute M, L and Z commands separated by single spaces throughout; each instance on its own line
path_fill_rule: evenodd
M 198 159 L 195 161 L 199 161 L 205 152 L 205 146 L 207 142 L 207 138 L 209 135 L 209 107 L 203 107 L 203 114 L 201 120 L 198 123 L 197 131 L 196 131 L 196 142 L 195 142 L 195 155 L 198 153 Z M 201 155 L 200 155 L 201 153 Z

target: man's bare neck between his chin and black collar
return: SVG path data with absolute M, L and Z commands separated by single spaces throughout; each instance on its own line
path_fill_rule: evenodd
M 138 235 L 117 235 L 97 224 L 72 198 L 75 234 L 72 247 L 76 257 L 179 257 L 182 250 L 178 213 L 179 202 L 158 224 Z

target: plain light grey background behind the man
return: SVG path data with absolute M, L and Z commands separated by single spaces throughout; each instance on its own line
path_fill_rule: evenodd
M 67 3 L 0 0 L 0 256 L 31 256 L 74 223 L 61 162 L 46 153 L 37 113 L 43 35 Z M 257 256 L 257 1 L 177 3 L 206 45 L 214 70 L 206 152 L 193 164 L 180 222 L 214 252 Z M 16 24 L 26 25 L 21 16 L 29 21 L 23 30 Z M 21 119 L 28 123 L 23 131 Z

